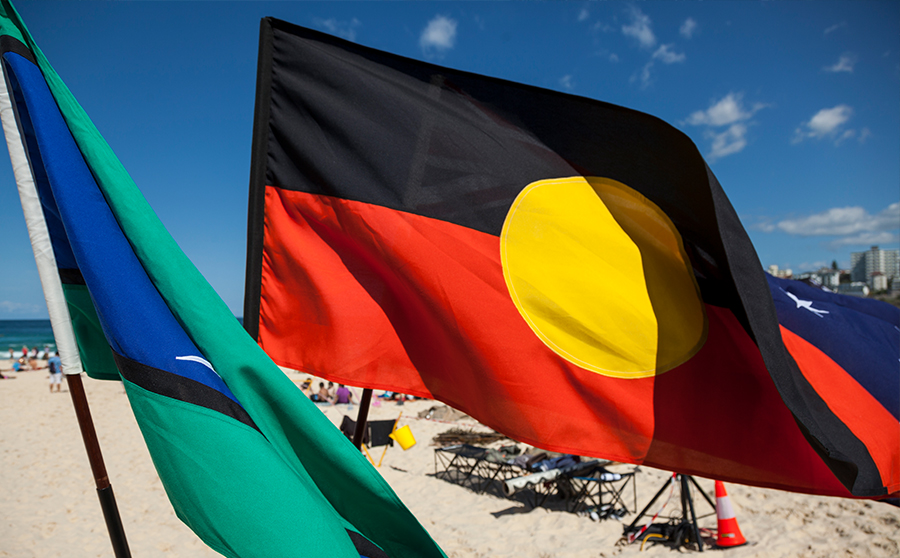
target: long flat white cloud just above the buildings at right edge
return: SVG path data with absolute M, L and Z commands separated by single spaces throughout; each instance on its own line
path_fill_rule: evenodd
M 886 233 L 900 228 L 900 202 L 892 203 L 875 215 L 859 206 L 835 207 L 808 217 L 785 219 L 776 227 L 797 236 L 858 235 L 862 238 L 863 233 Z

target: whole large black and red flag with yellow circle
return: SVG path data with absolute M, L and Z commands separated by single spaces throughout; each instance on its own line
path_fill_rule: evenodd
M 900 488 L 785 349 L 684 134 L 274 19 L 260 44 L 244 318 L 277 363 L 550 450 Z

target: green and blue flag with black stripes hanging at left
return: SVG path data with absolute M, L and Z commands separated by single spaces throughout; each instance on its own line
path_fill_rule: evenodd
M 2 12 L 2 66 L 19 132 L 8 142 L 18 139 L 27 154 L 59 276 L 81 293 L 77 304 L 66 293 L 69 308 L 102 330 L 102 347 L 100 338 L 79 339 L 82 360 L 89 373 L 123 380 L 179 518 L 229 557 L 442 556 L 244 332 L 6 0 Z

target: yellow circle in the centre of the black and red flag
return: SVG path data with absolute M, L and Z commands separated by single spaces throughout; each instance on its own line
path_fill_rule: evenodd
M 706 312 L 678 229 L 608 178 L 529 184 L 500 235 L 503 276 L 556 354 L 618 378 L 661 374 L 706 340 Z

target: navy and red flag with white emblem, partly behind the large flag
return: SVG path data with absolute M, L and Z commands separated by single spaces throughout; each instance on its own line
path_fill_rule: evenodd
M 830 419 L 827 432 L 834 444 L 869 457 L 870 467 L 848 465 L 848 478 L 860 485 L 896 485 L 900 308 L 800 281 L 768 280 L 784 345 L 805 380 L 773 374 L 782 396 L 798 409 L 818 409 Z M 801 424 L 814 420 L 811 413 L 798 416 Z M 825 444 L 819 449 L 827 451 Z

